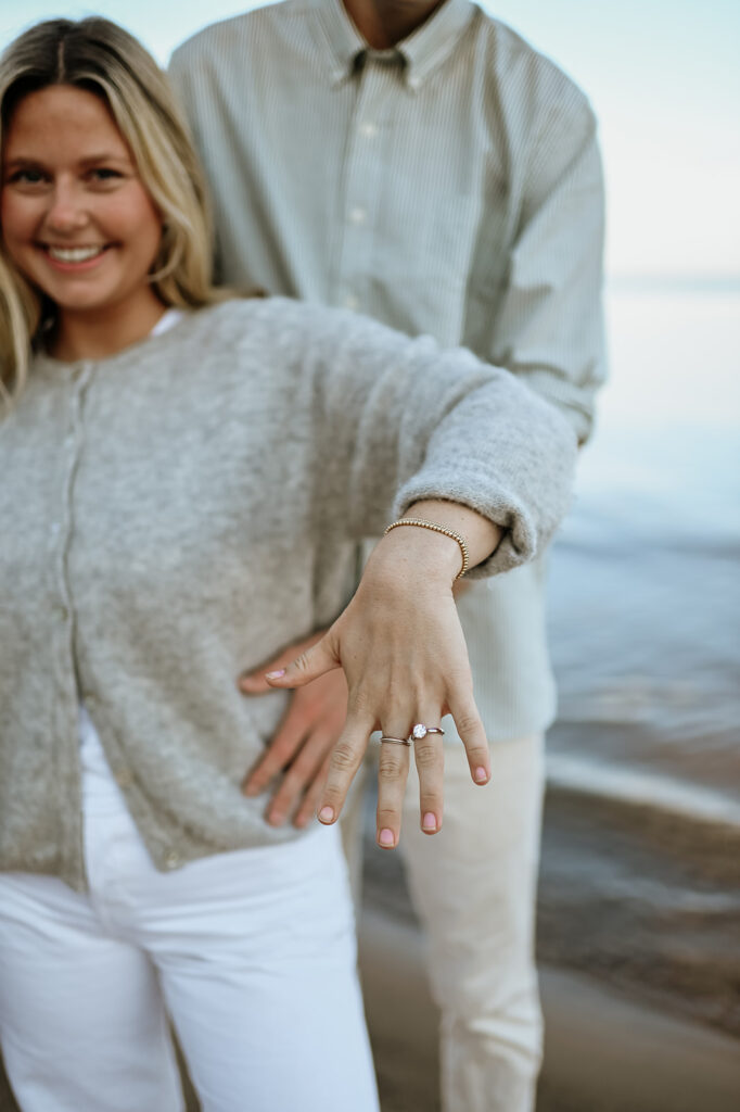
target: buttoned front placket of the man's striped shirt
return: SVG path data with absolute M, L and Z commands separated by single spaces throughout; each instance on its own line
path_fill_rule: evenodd
M 390 93 L 401 79 L 400 56 L 368 53 L 356 78 L 359 82 L 344 163 L 343 234 L 330 289 L 332 305 L 369 312 L 368 284 L 372 276 L 373 244 L 378 240 L 381 177 L 387 172 L 387 129 Z

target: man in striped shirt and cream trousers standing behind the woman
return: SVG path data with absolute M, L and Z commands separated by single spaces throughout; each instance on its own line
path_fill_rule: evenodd
M 196 36 L 172 77 L 210 178 L 224 281 L 463 344 L 586 439 L 602 378 L 602 181 L 593 115 L 551 62 L 468 0 L 288 0 Z M 470 784 L 446 721 L 443 830 L 428 837 L 418 786 L 407 797 L 400 847 L 430 940 L 447 1112 L 534 1100 L 554 712 L 542 580 L 536 562 L 459 597 L 491 783 Z M 247 781 L 261 791 L 288 770 L 268 821 L 308 821 L 342 714 L 333 681 L 296 694 Z

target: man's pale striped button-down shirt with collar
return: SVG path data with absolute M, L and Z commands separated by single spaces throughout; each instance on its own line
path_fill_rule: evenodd
M 551 61 L 468 0 L 383 51 L 340 0 L 287 0 L 196 36 L 171 75 L 224 281 L 470 347 L 587 438 L 603 188 L 593 113 Z M 491 738 L 553 714 L 542 578 L 536 562 L 460 599 Z

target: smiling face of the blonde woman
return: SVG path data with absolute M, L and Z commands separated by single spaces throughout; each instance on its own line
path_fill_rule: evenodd
M 94 316 L 140 319 L 146 331 L 161 312 L 148 280 L 161 218 L 92 92 L 50 86 L 16 107 L 2 147 L 0 226 L 18 269 L 56 302 L 60 329 Z

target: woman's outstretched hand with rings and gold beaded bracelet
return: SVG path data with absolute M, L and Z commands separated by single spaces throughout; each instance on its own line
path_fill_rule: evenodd
M 419 503 L 406 516 L 457 529 L 468 540 L 473 564 L 500 539 L 497 526 L 453 503 Z M 376 547 L 354 597 L 324 636 L 266 676 L 272 687 L 302 687 L 333 668 L 344 671 L 347 721 L 319 797 L 321 822 L 339 817 L 374 731 L 402 741 L 418 723 L 436 727 L 448 713 L 464 743 L 472 780 L 488 783 L 488 738 L 452 596 L 460 563 L 450 537 L 414 526 L 394 529 Z M 377 835 L 383 848 L 398 845 L 411 748 L 419 771 L 421 828 L 434 834 L 442 825 L 441 736 L 428 734 L 412 746 L 383 742 Z

